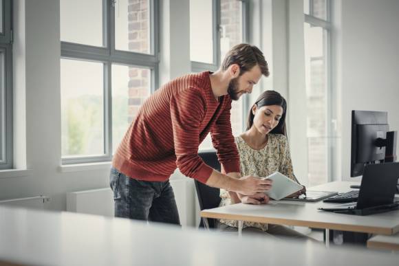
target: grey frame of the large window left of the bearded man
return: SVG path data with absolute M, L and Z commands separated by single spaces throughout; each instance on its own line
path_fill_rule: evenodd
M 96 47 L 79 43 L 61 41 L 61 59 L 86 60 L 103 63 L 103 100 L 104 100 L 104 154 L 98 156 L 63 156 L 61 163 L 83 164 L 93 162 L 109 162 L 112 159 L 112 97 L 111 74 L 112 64 L 127 65 L 129 67 L 147 68 L 151 71 L 151 91 L 158 87 L 159 65 L 159 0 L 149 0 L 149 12 L 151 19 L 150 30 L 150 54 L 128 52 L 115 49 L 115 0 L 103 0 L 103 45 Z M 60 59 L 60 60 L 61 60 Z

